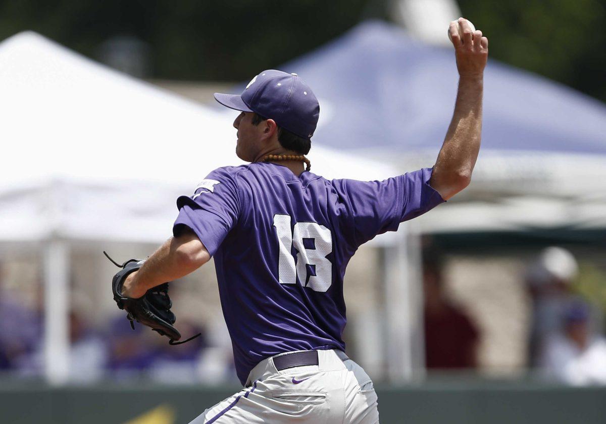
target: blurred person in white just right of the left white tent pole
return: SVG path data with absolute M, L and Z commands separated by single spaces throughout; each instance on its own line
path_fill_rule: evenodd
M 107 343 L 75 311 L 70 313 L 70 380 L 77 383 L 101 379 L 107 362 Z

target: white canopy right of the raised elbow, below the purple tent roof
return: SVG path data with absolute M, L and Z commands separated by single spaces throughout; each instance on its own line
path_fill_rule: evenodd
M 604 155 L 488 151 L 470 187 L 415 224 L 424 233 L 604 229 L 605 178 Z

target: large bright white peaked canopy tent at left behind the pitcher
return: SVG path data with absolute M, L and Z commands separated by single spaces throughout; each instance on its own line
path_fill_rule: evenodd
M 0 243 L 31 242 L 45 252 L 45 366 L 49 382 L 63 383 L 70 243 L 169 237 L 176 197 L 209 171 L 242 163 L 234 153 L 233 117 L 32 32 L 0 43 L 0 93 Z M 396 174 L 388 165 L 318 146 L 309 157 L 313 170 L 329 178 Z M 404 249 L 403 233 L 382 240 Z M 398 260 L 386 265 L 393 285 L 388 313 L 395 316 L 407 296 L 401 286 L 407 269 Z M 409 329 L 400 334 L 412 326 L 405 319 L 398 325 Z M 410 340 L 401 340 L 410 349 Z M 399 357 L 405 373 L 410 355 L 400 351 Z

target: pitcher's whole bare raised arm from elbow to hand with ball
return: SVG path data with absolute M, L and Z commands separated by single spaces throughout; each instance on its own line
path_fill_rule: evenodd
M 462 36 L 459 35 L 459 25 Z M 488 39 L 482 36 L 482 31 L 472 33 L 467 20 L 460 18 L 450 22 L 449 31 L 459 71 L 459 90 L 453 118 L 429 181 L 444 200 L 469 185 L 478 159 L 484 67 L 488 57 Z

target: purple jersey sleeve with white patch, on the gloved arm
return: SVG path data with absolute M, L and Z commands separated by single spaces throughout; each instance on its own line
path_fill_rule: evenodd
M 192 196 L 177 199 L 179 216 L 173 235 L 191 228 L 213 256 L 225 236 L 238 222 L 240 201 L 238 183 L 229 168 L 218 168 L 199 182 Z

